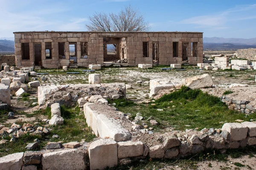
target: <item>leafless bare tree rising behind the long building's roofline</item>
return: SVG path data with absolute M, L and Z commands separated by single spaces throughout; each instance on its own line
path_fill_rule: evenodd
M 125 6 L 118 14 L 104 12 L 89 17 L 88 31 L 148 31 L 150 26 L 143 15 L 131 5 Z

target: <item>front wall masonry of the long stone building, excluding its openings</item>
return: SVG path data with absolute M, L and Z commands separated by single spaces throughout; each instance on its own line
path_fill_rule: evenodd
M 127 57 L 128 65 L 153 63 L 153 42 L 159 44 L 159 64 L 181 64 L 182 63 L 182 43 L 189 44 L 196 42 L 197 57 L 192 57 L 189 53 L 188 61 L 192 65 L 203 62 L 203 33 L 201 32 L 15 32 L 15 56 L 17 68 L 30 67 L 35 65 L 34 45 L 41 44 L 41 66 L 44 68 L 56 68 L 57 66 L 69 66 L 69 43 L 76 44 L 77 65 L 88 67 L 89 64 L 104 63 L 104 37 L 118 38 L 126 40 L 121 46 L 126 44 L 124 58 Z M 125 39 L 124 39 L 125 38 Z M 52 59 L 46 59 L 45 43 L 52 44 Z M 59 59 L 58 43 L 65 45 L 64 59 Z M 81 42 L 87 42 L 88 58 L 81 58 Z M 148 42 L 148 57 L 143 57 L 143 42 Z M 178 57 L 173 57 L 173 42 L 178 42 Z M 29 43 L 29 59 L 22 59 L 22 43 Z M 122 52 L 122 51 L 121 51 Z M 122 55 L 120 53 L 120 55 Z

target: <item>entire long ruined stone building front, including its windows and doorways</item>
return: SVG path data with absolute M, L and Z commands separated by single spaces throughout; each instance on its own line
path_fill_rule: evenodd
M 203 62 L 202 32 L 14 32 L 17 68 L 57 68 L 127 60 L 138 64 Z

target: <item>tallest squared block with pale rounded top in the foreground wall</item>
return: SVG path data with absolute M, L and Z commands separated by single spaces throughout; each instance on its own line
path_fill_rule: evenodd
M 104 170 L 118 163 L 117 143 L 113 139 L 99 139 L 89 147 L 90 170 Z

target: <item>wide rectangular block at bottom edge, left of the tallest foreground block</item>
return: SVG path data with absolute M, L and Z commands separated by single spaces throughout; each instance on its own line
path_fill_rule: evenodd
M 42 156 L 43 170 L 85 170 L 84 153 L 76 150 L 61 150 Z

